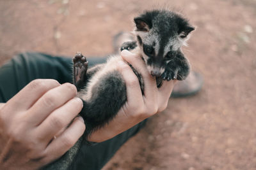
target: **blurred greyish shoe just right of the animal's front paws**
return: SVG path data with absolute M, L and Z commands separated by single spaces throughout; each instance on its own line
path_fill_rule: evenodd
M 197 94 L 204 84 L 201 74 L 191 71 L 186 80 L 178 81 L 173 87 L 171 97 L 188 97 Z

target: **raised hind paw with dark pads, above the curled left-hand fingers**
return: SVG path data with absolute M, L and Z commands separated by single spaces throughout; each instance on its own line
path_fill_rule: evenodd
M 88 68 L 88 61 L 86 60 L 86 57 L 82 55 L 81 52 L 77 52 L 76 56 L 73 58 L 74 62 L 74 85 L 76 85 L 77 90 L 79 91 L 84 84 L 86 71 Z

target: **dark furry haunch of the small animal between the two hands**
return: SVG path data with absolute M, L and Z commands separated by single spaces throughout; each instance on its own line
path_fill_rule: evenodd
M 86 124 L 84 136 L 89 136 L 107 124 L 126 101 L 126 89 L 124 80 L 118 71 L 113 71 L 102 77 L 92 89 L 90 101 L 84 101 L 81 116 Z

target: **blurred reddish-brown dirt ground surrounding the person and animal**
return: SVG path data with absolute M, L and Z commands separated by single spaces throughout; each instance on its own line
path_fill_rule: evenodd
M 255 0 L 0 0 L 0 64 L 24 51 L 106 55 L 134 16 L 159 6 L 196 25 L 184 52 L 204 87 L 170 99 L 104 170 L 256 169 Z

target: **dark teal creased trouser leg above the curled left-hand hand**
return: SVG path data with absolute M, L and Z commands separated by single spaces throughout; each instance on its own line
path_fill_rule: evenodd
M 0 67 L 0 103 L 5 103 L 30 81 L 51 78 L 72 82 L 72 59 L 44 53 L 26 52 Z

